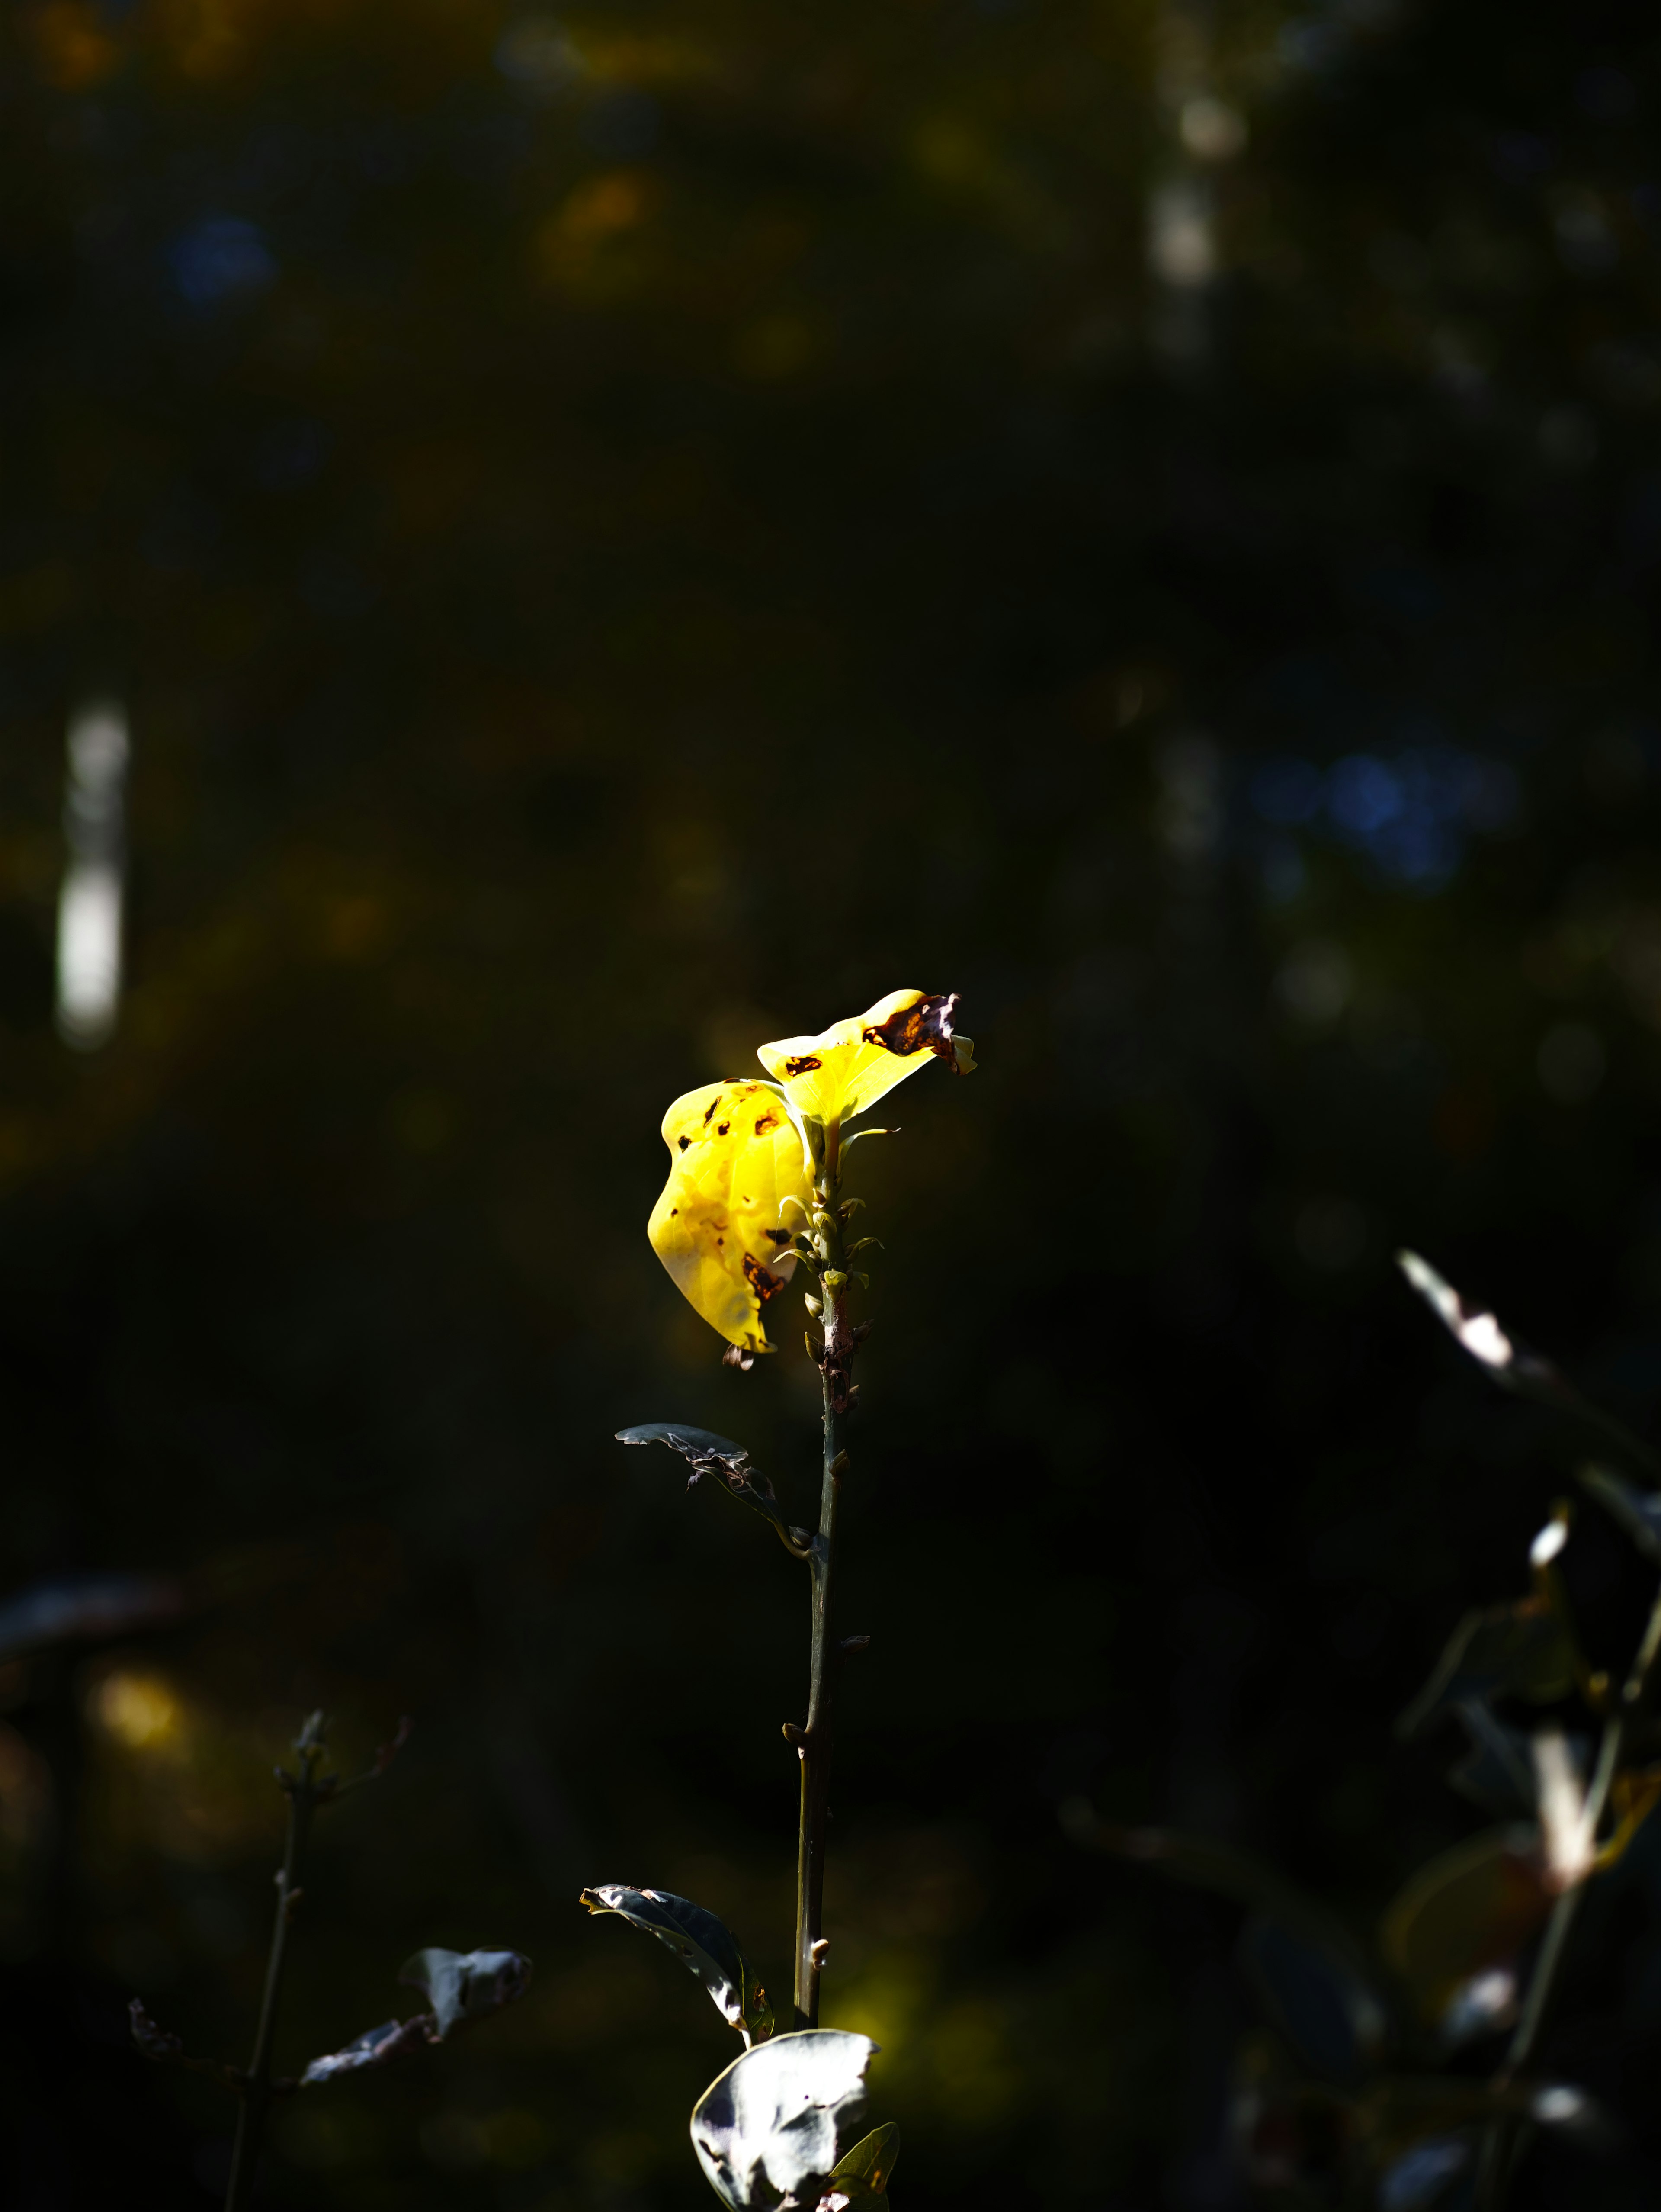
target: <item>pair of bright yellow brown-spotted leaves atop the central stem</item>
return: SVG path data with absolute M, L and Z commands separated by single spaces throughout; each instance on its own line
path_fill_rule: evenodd
M 821 1037 L 785 1037 L 756 1055 L 776 1084 L 728 1079 L 688 1091 L 664 1115 L 670 1175 L 646 1223 L 652 1252 L 699 1314 L 743 1354 L 772 1352 L 761 1310 L 790 1281 L 794 1199 L 803 1228 L 814 1168 L 803 1121 L 847 1121 L 938 1055 L 973 1068 L 951 1035 L 953 998 L 891 991 Z

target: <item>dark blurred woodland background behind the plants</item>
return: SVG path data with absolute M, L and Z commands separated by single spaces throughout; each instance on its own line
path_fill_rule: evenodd
M 1057 1807 L 1365 1933 L 1480 1825 L 1391 1719 L 1564 1482 L 1391 1250 L 1661 1389 L 1654 13 L 0 40 L 0 2194 L 223 2188 L 124 2006 L 246 2057 L 325 1705 L 416 1734 L 321 1825 L 279 2064 L 420 1944 L 537 1980 L 285 2108 L 270 2203 L 708 2201 L 732 2037 L 577 1889 L 783 1993 L 805 1601 L 610 1436 L 805 1511 L 816 1376 L 794 1310 L 717 1365 L 657 1121 L 918 987 L 982 1073 L 856 1155 L 827 2017 L 907 2205 L 1243 2203 L 1236 1916 Z M 1566 1566 L 1615 1652 L 1641 1588 Z M 1550 2064 L 1641 2132 L 1634 1955 Z M 1590 2172 L 1526 2201 L 1654 2201 Z

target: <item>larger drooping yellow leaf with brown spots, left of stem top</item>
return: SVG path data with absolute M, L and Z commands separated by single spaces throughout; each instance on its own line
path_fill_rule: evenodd
M 785 1199 L 807 1199 L 801 1135 L 770 1084 L 706 1084 L 664 1115 L 670 1175 L 646 1234 L 681 1294 L 745 1352 L 772 1352 L 761 1307 L 796 1261 Z

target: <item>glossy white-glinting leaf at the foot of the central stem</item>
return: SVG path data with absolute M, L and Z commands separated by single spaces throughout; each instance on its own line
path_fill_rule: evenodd
M 692 2148 L 732 2212 L 816 2203 L 865 2115 L 876 2044 L 840 2028 L 774 2035 L 734 2059 L 692 2108 Z

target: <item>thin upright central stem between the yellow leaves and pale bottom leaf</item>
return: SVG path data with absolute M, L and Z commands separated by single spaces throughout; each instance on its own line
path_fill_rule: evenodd
M 801 1827 L 796 1836 L 796 2026 L 818 2026 L 821 1962 L 814 1955 L 825 1913 L 825 1823 L 829 1818 L 829 1765 L 834 1743 L 836 1672 L 840 1652 L 834 1641 L 836 1582 L 836 1504 L 847 1467 L 843 1429 L 847 1422 L 849 1374 L 854 1367 L 854 1329 L 847 1314 L 849 1281 L 843 1267 L 843 1225 L 836 1217 L 840 1188 L 840 1128 L 825 1128 L 825 1155 L 814 1190 L 814 1230 L 825 1263 L 823 1321 L 825 1356 L 825 1460 L 818 1491 L 818 1535 L 807 1555 L 812 1575 L 812 1657 L 807 1677 L 807 1728 L 801 1752 Z

